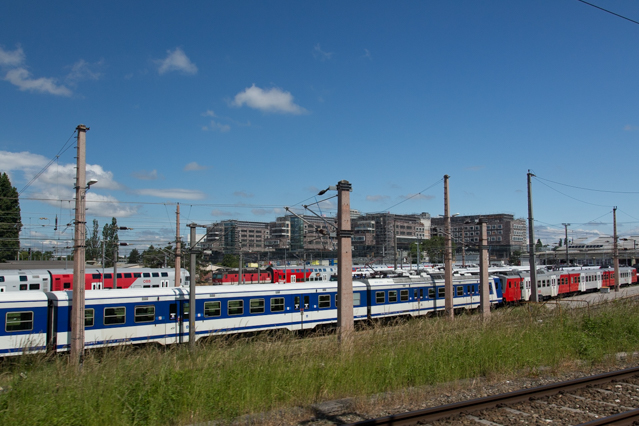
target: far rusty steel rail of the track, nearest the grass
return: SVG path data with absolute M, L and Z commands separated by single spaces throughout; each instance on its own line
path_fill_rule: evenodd
M 446 417 L 453 417 L 462 413 L 470 413 L 473 411 L 484 410 L 487 408 L 495 408 L 498 405 L 514 404 L 521 401 L 527 401 L 532 398 L 541 398 L 545 396 L 555 395 L 559 392 L 569 392 L 586 386 L 608 383 L 615 380 L 622 380 L 628 377 L 639 375 L 639 367 L 629 368 L 626 370 L 614 371 L 612 373 L 598 374 L 596 376 L 582 377 L 580 379 L 569 380 L 566 382 L 552 383 L 550 385 L 538 386 L 530 389 L 522 389 L 515 392 L 503 393 L 499 395 L 487 396 L 484 398 L 472 399 L 469 401 L 461 401 L 453 404 L 442 405 L 439 407 L 426 408 L 423 410 L 411 411 L 408 413 L 394 414 L 387 417 L 377 419 L 363 420 L 351 423 L 348 426 L 404 426 L 415 425 L 418 422 L 428 423 L 440 420 Z M 639 410 L 636 415 L 639 415 Z M 624 413 L 622 413 L 624 414 Z M 625 413 L 628 414 L 628 413 Z M 619 414 L 620 415 L 620 414 Z M 607 417 L 608 418 L 608 417 Z M 607 419 L 606 418 L 606 419 Z M 604 421 L 605 419 L 599 419 Z M 619 419 L 621 420 L 621 418 Z M 588 425 L 606 425 L 613 423 L 587 423 Z M 631 423 L 614 423 L 614 424 L 632 424 Z

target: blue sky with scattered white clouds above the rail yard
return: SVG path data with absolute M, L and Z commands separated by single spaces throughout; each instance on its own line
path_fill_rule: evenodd
M 611 234 L 612 206 L 639 234 L 639 25 L 577 0 L 0 12 L 0 171 L 22 190 L 89 126 L 88 221 L 140 247 L 174 238 L 177 202 L 183 224 L 269 221 L 342 179 L 364 213 L 442 214 L 448 174 L 452 212 L 526 218 L 528 169 L 536 237 Z M 74 157 L 22 192 L 23 246 L 71 238 Z

